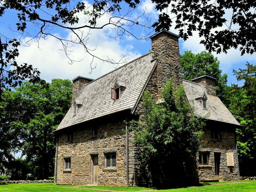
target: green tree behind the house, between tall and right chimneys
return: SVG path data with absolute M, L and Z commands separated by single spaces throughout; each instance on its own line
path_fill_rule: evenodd
M 218 61 L 218 58 L 206 51 L 198 54 L 194 54 L 191 51 L 185 51 L 184 54 L 181 55 L 180 60 L 184 79 L 191 80 L 202 75 L 216 78 L 216 93 L 222 101 L 225 100 L 223 94 L 228 81 L 228 75 L 226 73 L 221 75 L 222 70 L 219 68 L 220 62 Z

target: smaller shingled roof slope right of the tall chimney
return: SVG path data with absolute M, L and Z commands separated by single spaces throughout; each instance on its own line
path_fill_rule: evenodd
M 188 101 L 194 106 L 194 113 L 197 116 L 207 116 L 209 120 L 226 122 L 230 124 L 240 125 L 222 101 L 214 95 L 206 94 L 207 96 L 207 110 L 202 109 L 200 104 L 196 102 L 198 95 L 204 93 L 204 89 L 198 83 L 182 80 L 184 90 Z

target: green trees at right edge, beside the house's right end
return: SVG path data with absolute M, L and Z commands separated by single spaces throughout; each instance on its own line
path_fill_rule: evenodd
M 256 170 L 256 65 L 233 70 L 244 85 L 232 85 L 226 91 L 226 106 L 244 127 L 236 130 L 241 175 L 254 176 Z

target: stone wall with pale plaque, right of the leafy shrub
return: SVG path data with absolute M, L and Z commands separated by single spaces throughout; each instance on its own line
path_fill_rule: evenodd
M 216 126 L 218 128 L 220 126 Z M 211 138 L 211 128 L 204 128 L 202 136 L 202 147 L 200 152 L 209 153 L 208 165 L 199 164 L 198 156 L 198 175 L 200 180 L 212 180 L 215 175 L 214 153 L 220 153 L 220 172 L 219 180 L 230 181 L 238 180 L 238 162 L 235 144 L 235 129 L 234 128 L 220 128 L 220 140 Z M 227 152 L 233 153 L 234 166 L 227 164 Z

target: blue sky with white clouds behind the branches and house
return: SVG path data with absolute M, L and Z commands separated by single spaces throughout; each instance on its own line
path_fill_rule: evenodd
M 90 1 L 86 2 L 86 4 L 90 5 Z M 159 12 L 155 10 L 154 4 L 152 4 L 150 0 L 142 0 L 138 9 L 134 11 L 134 15 L 141 14 L 145 8 L 146 13 L 144 16 L 151 18 L 153 23 L 155 20 L 157 20 Z M 124 11 L 126 10 L 124 9 Z M 229 19 L 229 16 L 230 15 L 227 11 L 227 20 Z M 84 15 L 79 14 L 78 17 L 80 18 L 79 24 L 83 24 Z M 99 26 L 107 22 L 109 17 L 110 16 L 108 15 L 102 17 L 100 19 Z M 143 22 L 145 19 L 141 18 L 139 21 Z M 20 34 L 12 32 L 8 28 L 10 24 L 12 30 L 15 30 L 16 22 L 16 13 L 14 11 L 6 11 L 4 16 L 0 18 L 0 33 L 10 38 L 20 38 Z M 144 34 L 143 29 L 138 27 L 133 28 L 131 31 L 138 37 Z M 174 28 L 172 28 L 170 31 L 178 34 L 178 31 L 174 30 Z M 38 32 L 38 28 L 30 24 L 28 27 L 28 32 L 31 34 L 36 33 Z M 86 34 L 86 32 L 88 32 L 88 30 L 85 29 L 84 34 Z M 61 38 L 70 38 L 70 36 L 72 36 L 69 31 L 60 28 L 55 28 L 54 34 Z M 125 58 L 131 61 L 138 56 L 147 53 L 151 49 L 150 39 L 136 40 L 135 38 L 128 36 L 123 36 L 122 39 L 113 39 L 107 37 L 106 35 L 114 36 L 115 31 L 108 27 L 104 28 L 103 30 L 91 30 L 87 41 L 88 47 L 91 49 L 96 48 L 93 53 L 103 59 L 111 58 L 118 61 L 123 57 L 123 55 L 125 55 Z M 25 43 L 26 40 L 29 40 L 28 37 L 22 36 L 21 39 L 25 46 L 21 46 L 19 48 L 20 56 L 18 58 L 18 62 L 32 64 L 35 68 L 40 70 L 41 78 L 47 81 L 51 81 L 53 78 L 72 80 L 76 76 L 98 78 L 116 67 L 113 64 L 94 59 L 92 67 L 96 66 L 96 68 L 92 70 L 92 73 L 90 73 L 90 62 L 92 61 L 92 57 L 84 51 L 82 46 L 76 45 L 70 48 L 72 51 L 69 52 L 70 58 L 74 60 L 81 60 L 80 62 L 75 62 L 74 64 L 70 65 L 68 64 L 68 58 L 64 52 L 61 51 L 62 45 L 55 38 L 48 36 L 48 38 L 45 40 L 40 39 L 39 42 L 32 40 L 28 43 Z M 183 54 L 186 50 L 192 50 L 194 53 L 204 51 L 204 46 L 199 44 L 199 42 L 200 38 L 197 33 L 194 33 L 193 36 L 185 42 L 180 39 L 180 53 Z M 218 57 L 218 60 L 220 61 L 220 69 L 222 70 L 222 73 L 228 74 L 228 85 L 231 83 L 238 83 L 235 76 L 233 76 L 233 69 L 237 70 L 238 68 L 244 68 L 246 61 L 250 62 L 251 64 L 256 63 L 256 54 L 245 54 L 244 56 L 240 56 L 239 50 L 231 49 L 227 54 L 213 54 L 214 56 Z M 239 84 L 241 85 L 242 83 Z

